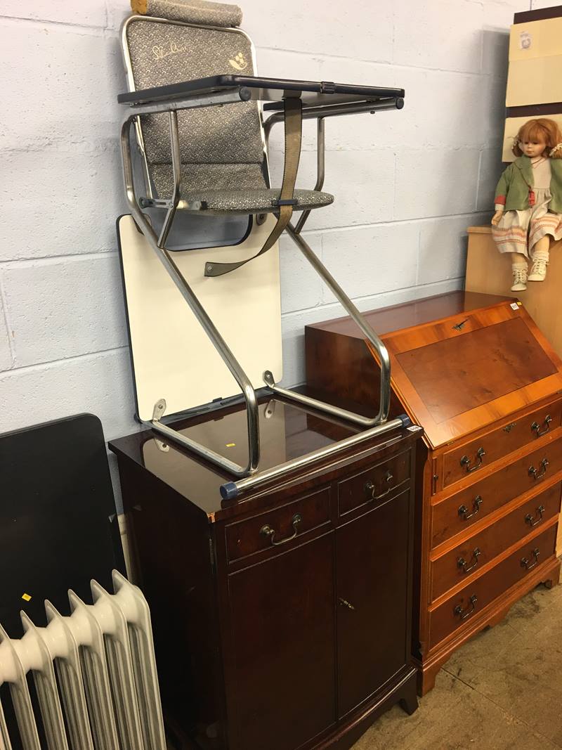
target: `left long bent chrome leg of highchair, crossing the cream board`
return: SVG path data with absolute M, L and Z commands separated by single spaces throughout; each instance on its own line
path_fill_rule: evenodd
M 228 344 L 226 344 L 226 341 L 220 335 L 218 329 L 214 326 L 214 323 L 208 316 L 205 308 L 203 308 L 199 299 L 197 299 L 190 285 L 187 284 L 187 281 L 178 269 L 178 266 L 175 265 L 170 257 L 169 252 L 158 246 L 158 240 L 154 233 L 154 229 L 152 229 L 151 225 L 146 220 L 145 215 L 139 208 L 136 201 L 133 182 L 133 163 L 130 158 L 130 119 L 124 121 L 121 127 L 121 154 L 123 157 L 123 172 L 127 202 L 129 203 L 133 218 L 136 220 L 136 223 L 139 224 L 139 227 L 141 227 L 143 235 L 151 245 L 153 251 L 157 254 L 158 259 L 163 264 L 166 271 L 169 273 L 175 286 L 178 287 L 181 296 L 187 302 L 187 305 L 190 306 L 190 310 L 199 321 L 203 330 L 211 339 L 212 344 L 220 354 L 226 367 L 229 368 L 229 371 L 235 378 L 238 386 L 240 386 L 242 394 L 244 395 L 248 426 L 248 464 L 245 473 L 252 474 L 256 471 L 259 463 L 259 413 L 256 392 L 253 389 L 250 378 L 247 377 L 247 374 L 241 368 L 241 365 L 230 350 Z M 196 448 L 194 447 L 193 450 L 196 450 Z M 201 455 L 205 456 L 203 451 L 199 452 Z M 229 469 L 229 466 L 227 466 L 226 463 L 221 462 L 219 465 L 223 466 L 223 468 Z

